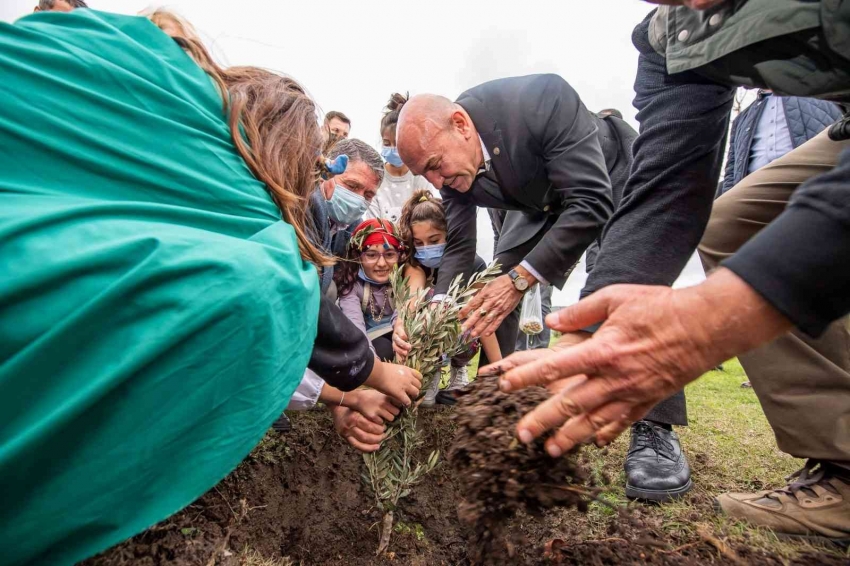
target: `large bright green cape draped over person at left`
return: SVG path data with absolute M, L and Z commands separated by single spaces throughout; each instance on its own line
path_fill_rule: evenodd
M 318 277 L 211 80 L 147 19 L 0 24 L 0 100 L 0 564 L 73 564 L 259 442 Z

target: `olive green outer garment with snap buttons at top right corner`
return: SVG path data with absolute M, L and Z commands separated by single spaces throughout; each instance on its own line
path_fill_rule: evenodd
M 649 39 L 670 74 L 693 70 L 725 84 L 850 100 L 850 0 L 664 6 Z

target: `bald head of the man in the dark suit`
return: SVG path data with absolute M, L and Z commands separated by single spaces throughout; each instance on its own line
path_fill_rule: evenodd
M 444 96 L 412 97 L 398 118 L 401 160 L 435 187 L 466 192 L 483 162 L 478 132 L 466 110 Z

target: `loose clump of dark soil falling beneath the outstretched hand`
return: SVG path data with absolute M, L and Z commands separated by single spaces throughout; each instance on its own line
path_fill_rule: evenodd
M 578 450 L 553 459 L 543 438 L 528 445 L 516 440 L 520 418 L 549 396 L 541 387 L 503 393 L 495 378 L 479 379 L 461 394 L 449 463 L 463 494 L 458 516 L 473 530 L 469 553 L 475 564 L 515 557 L 522 541 L 507 527 L 517 513 L 539 517 L 553 507 L 584 512 L 597 495 Z

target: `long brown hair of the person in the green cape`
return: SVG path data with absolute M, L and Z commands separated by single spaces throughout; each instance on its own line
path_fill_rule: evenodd
M 160 27 L 179 24 L 169 26 L 169 35 L 218 86 L 236 150 L 295 230 L 301 257 L 317 266 L 332 265 L 306 229 L 322 146 L 315 102 L 289 77 L 258 67 L 220 67 L 191 24 L 165 10 L 155 14 L 151 19 Z

